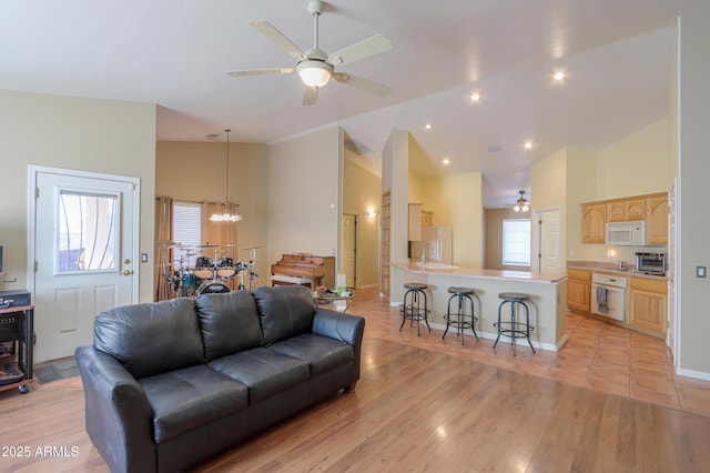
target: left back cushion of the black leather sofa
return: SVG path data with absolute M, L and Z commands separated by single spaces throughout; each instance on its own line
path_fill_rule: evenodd
M 94 321 L 93 344 L 135 379 L 204 362 L 195 305 L 186 298 L 104 311 Z

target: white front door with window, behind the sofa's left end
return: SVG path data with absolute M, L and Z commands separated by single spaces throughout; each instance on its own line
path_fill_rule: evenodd
M 138 192 L 131 178 L 45 168 L 34 180 L 37 362 L 91 344 L 101 311 L 136 301 Z

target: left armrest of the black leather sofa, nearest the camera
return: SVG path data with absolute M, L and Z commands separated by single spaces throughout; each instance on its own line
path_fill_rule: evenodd
M 156 471 L 152 409 L 141 385 L 116 359 L 93 346 L 78 348 L 75 356 L 87 433 L 111 471 Z

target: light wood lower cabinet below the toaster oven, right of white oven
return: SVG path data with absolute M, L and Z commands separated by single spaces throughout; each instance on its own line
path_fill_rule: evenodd
M 668 322 L 667 302 L 668 283 L 666 280 L 631 278 L 627 323 L 665 336 Z

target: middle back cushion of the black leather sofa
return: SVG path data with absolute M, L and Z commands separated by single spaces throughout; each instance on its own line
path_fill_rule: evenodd
M 205 360 L 263 345 L 256 302 L 250 291 L 199 295 L 195 308 Z

